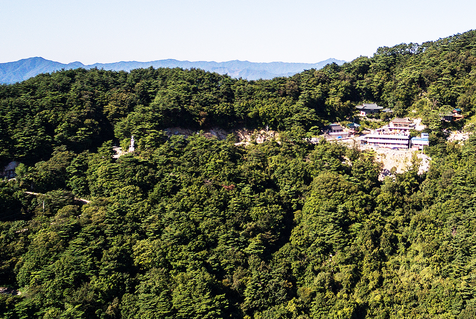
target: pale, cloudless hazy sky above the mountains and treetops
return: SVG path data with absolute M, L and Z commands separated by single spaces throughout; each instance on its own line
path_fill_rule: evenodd
M 476 1 L 0 0 L 0 63 L 351 61 L 476 28 Z

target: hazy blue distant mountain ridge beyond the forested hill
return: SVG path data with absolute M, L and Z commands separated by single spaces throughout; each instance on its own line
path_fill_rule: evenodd
M 235 78 L 246 78 L 256 80 L 259 78 L 270 79 L 276 76 L 291 76 L 307 69 L 321 69 L 326 64 L 337 63 L 342 65 L 345 61 L 336 59 L 327 59 L 318 63 L 286 63 L 286 62 L 270 62 L 255 63 L 248 61 L 227 61 L 227 62 L 207 62 L 207 61 L 178 61 L 174 59 L 157 60 L 151 62 L 115 62 L 115 63 L 95 63 L 84 65 L 81 62 L 72 62 L 63 64 L 55 61 L 46 60 L 41 57 L 22 59 L 16 62 L 0 63 L 0 83 L 11 84 L 21 82 L 40 73 L 49 73 L 57 70 L 85 68 L 113 70 L 113 71 L 130 71 L 137 68 L 148 68 L 153 66 L 159 67 L 181 67 L 184 69 L 200 68 L 210 72 L 219 74 L 228 74 Z

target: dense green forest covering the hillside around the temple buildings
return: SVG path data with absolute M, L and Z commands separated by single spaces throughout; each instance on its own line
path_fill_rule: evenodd
M 427 173 L 415 158 L 379 181 L 373 152 L 306 141 L 362 102 L 423 118 Z M 0 287 L 21 292 L 0 317 L 474 318 L 476 135 L 446 141 L 455 107 L 472 130 L 476 31 L 266 81 L 75 69 L 0 86 L 0 164 L 22 163 L 0 181 Z M 200 133 L 265 126 L 279 138 Z

